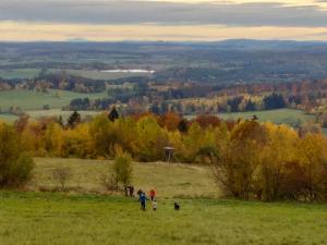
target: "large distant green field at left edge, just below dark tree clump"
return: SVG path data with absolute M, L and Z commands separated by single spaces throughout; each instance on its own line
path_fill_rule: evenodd
M 107 93 L 81 94 L 66 90 L 50 89 L 49 93 L 37 93 L 34 90 L 7 90 L 0 91 L 0 107 L 7 110 L 10 107 L 20 107 L 23 110 L 41 110 L 45 105 L 51 109 L 60 109 L 68 106 L 72 99 L 105 98 Z

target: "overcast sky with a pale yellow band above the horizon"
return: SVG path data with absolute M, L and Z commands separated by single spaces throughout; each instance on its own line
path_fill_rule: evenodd
M 0 0 L 0 41 L 327 40 L 327 0 Z

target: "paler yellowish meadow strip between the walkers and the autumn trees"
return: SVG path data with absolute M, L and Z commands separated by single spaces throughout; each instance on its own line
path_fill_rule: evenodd
M 101 184 L 104 173 L 109 171 L 111 161 L 80 159 L 35 159 L 35 177 L 29 188 L 52 188 L 58 183 L 52 172 L 58 167 L 70 168 L 72 177 L 68 187 L 82 192 L 105 192 Z M 208 168 L 185 164 L 137 163 L 134 162 L 133 184 L 144 191 L 156 188 L 160 197 L 217 197 Z

